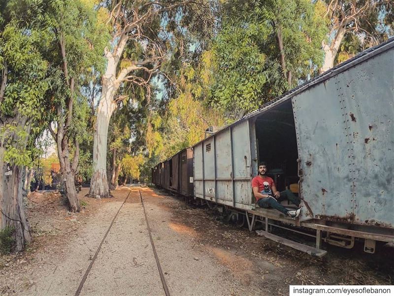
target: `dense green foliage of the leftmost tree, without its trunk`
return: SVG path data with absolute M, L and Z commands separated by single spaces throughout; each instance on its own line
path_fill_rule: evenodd
M 48 110 L 49 63 L 41 46 L 49 33 L 39 21 L 40 5 L 39 1 L 0 2 L 0 72 L 6 74 L 0 140 L 6 148 L 5 161 L 11 165 L 31 165 L 28 143 L 41 132 Z

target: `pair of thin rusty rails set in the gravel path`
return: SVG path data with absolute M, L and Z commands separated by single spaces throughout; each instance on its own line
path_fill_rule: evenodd
M 158 268 L 158 271 L 159 271 L 159 274 L 160 274 L 160 279 L 161 279 L 161 281 L 162 281 L 162 285 L 163 285 L 163 289 L 164 289 L 164 294 L 165 294 L 165 296 L 170 296 L 169 290 L 168 290 L 168 286 L 167 286 L 167 283 L 166 283 L 165 278 L 164 278 L 164 273 L 163 273 L 162 267 L 161 267 L 161 265 L 160 265 L 159 257 L 158 257 L 158 255 L 157 255 L 157 251 L 156 251 L 156 248 L 155 248 L 155 244 L 154 244 L 154 242 L 153 242 L 152 233 L 151 233 L 151 229 L 150 229 L 150 226 L 149 226 L 148 216 L 147 216 L 147 214 L 146 214 L 145 205 L 144 205 L 144 200 L 143 200 L 143 198 L 142 198 L 141 190 L 138 190 L 138 191 L 139 191 L 139 197 L 140 197 L 141 205 L 142 205 L 142 208 L 143 208 L 143 211 L 144 211 L 144 217 L 145 217 L 146 227 L 147 227 L 147 229 L 148 229 L 148 234 L 149 234 L 149 239 L 150 239 L 150 242 L 151 242 L 151 247 L 152 247 L 152 250 L 153 250 L 153 254 L 154 254 L 154 256 L 155 256 L 156 265 L 157 265 L 157 268 Z M 98 256 L 99 253 L 100 253 L 101 247 L 102 247 L 102 245 L 103 245 L 105 239 L 107 238 L 107 235 L 108 235 L 108 233 L 110 232 L 110 230 L 111 230 L 111 228 L 112 228 L 112 226 L 113 226 L 113 224 L 114 224 L 116 218 L 118 217 L 119 212 L 121 211 L 121 209 L 123 208 L 124 204 L 125 204 L 126 201 L 128 200 L 128 198 L 129 198 L 129 196 L 130 196 L 130 193 L 131 193 L 131 190 L 130 190 L 129 194 L 126 196 L 126 198 L 125 198 L 125 200 L 123 201 L 122 205 L 119 207 L 118 211 L 116 212 L 114 218 L 112 219 L 112 222 L 111 222 L 110 225 L 108 226 L 108 229 L 107 229 L 107 231 L 105 232 L 105 234 L 104 234 L 104 236 L 103 236 L 103 238 L 102 238 L 102 240 L 101 240 L 101 242 L 100 242 L 100 244 L 99 244 L 99 247 L 98 247 L 97 250 L 96 250 L 96 253 L 95 253 L 95 255 L 94 255 L 92 261 L 90 262 L 88 268 L 86 269 L 85 274 L 83 275 L 83 277 L 82 277 L 82 279 L 81 279 L 81 282 L 79 283 L 78 289 L 76 290 L 74 296 L 79 296 L 79 295 L 80 295 L 80 293 L 81 293 L 81 291 L 82 291 L 82 288 L 83 288 L 83 286 L 84 286 L 84 284 L 85 284 L 85 282 L 86 282 L 86 279 L 88 278 L 88 275 L 89 275 L 89 273 L 90 273 L 90 271 L 91 271 L 91 269 L 92 269 L 92 267 L 93 267 L 93 265 L 94 265 L 94 263 L 95 263 L 95 261 L 96 261 L 96 259 L 97 259 L 97 256 Z

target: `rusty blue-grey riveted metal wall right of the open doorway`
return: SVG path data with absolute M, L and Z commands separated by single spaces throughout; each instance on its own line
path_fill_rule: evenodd
M 304 210 L 394 227 L 394 50 L 292 98 Z

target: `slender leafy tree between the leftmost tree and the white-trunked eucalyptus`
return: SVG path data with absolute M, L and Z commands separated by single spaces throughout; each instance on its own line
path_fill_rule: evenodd
M 74 185 L 79 143 L 86 137 L 89 106 L 80 93 L 84 74 L 104 65 L 105 25 L 99 22 L 94 0 L 49 1 L 46 19 L 52 39 L 48 60 L 52 61 L 54 85 L 48 96 L 54 104 L 54 121 L 48 125 L 58 150 L 70 211 L 78 212 Z M 73 155 L 71 155 L 71 146 Z

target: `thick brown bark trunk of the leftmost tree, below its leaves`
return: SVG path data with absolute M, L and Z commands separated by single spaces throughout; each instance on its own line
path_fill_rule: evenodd
M 3 121 L 4 124 L 10 122 L 16 122 L 17 126 L 27 126 L 26 117 L 12 118 L 9 122 L 8 120 Z M 27 132 L 30 133 L 29 125 Z M 11 143 L 18 143 L 19 148 L 27 145 L 27 139 L 20 139 L 16 133 L 6 138 L 11 140 Z M 3 138 L 0 143 L 0 229 L 7 226 L 14 228 L 15 244 L 12 251 L 20 252 L 25 249 L 26 243 L 32 240 L 23 205 L 25 169 L 22 166 L 8 164 L 5 161 L 4 141 Z

